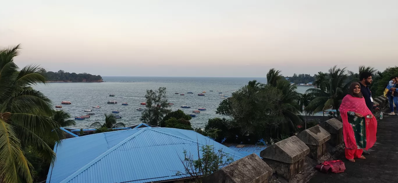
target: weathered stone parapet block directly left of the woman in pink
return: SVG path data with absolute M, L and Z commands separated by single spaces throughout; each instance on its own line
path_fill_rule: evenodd
M 341 119 L 341 116 L 339 116 Z M 336 118 L 329 119 L 320 124 L 320 126 L 330 133 L 329 143 L 337 146 L 343 143 L 343 123 Z

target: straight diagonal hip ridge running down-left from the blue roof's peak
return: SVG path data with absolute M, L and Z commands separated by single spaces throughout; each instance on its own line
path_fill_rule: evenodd
M 95 164 L 96 162 L 98 162 L 99 160 L 101 160 L 104 156 L 106 156 L 107 154 L 109 154 L 110 152 L 112 152 L 113 150 L 115 150 L 116 148 L 118 148 L 119 146 L 123 145 L 124 143 L 126 143 L 127 141 L 133 139 L 135 136 L 139 135 L 140 133 L 144 132 L 145 130 L 147 130 L 148 128 L 144 128 L 141 129 L 140 131 L 134 133 L 133 135 L 130 135 L 129 137 L 127 137 L 126 139 L 124 139 L 123 141 L 121 141 L 120 143 L 116 144 L 115 146 L 113 146 L 112 148 L 108 149 L 107 151 L 105 151 L 104 153 L 102 153 L 100 156 L 97 156 L 97 158 L 94 158 L 94 160 L 92 160 L 90 163 L 86 164 L 85 166 L 83 166 L 82 168 L 80 168 L 79 170 L 75 171 L 74 173 L 72 173 L 71 175 L 69 175 L 68 177 L 66 177 L 66 179 L 62 180 L 60 183 L 66 183 L 70 180 L 72 180 L 74 177 L 76 177 L 77 175 L 79 175 L 80 173 L 82 173 L 84 170 L 87 170 L 88 168 L 90 168 L 90 166 L 92 166 L 93 164 Z

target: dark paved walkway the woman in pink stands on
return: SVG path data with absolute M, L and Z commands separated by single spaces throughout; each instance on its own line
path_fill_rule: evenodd
M 349 162 L 343 153 L 339 159 L 345 163 L 344 173 L 318 173 L 309 183 L 398 183 L 398 116 L 383 117 L 378 120 L 377 143 L 366 160 Z

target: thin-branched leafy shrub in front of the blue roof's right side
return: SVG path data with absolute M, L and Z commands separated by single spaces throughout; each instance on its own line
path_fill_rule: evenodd
M 185 172 L 176 171 L 176 175 L 187 174 L 195 183 L 202 183 L 202 179 L 208 175 L 220 170 L 222 167 L 234 162 L 233 156 L 222 152 L 222 149 L 215 150 L 212 145 L 202 145 L 195 156 L 183 151 L 184 158 L 180 158 Z M 200 153 L 202 153 L 200 155 Z M 195 158 L 194 158 L 195 157 Z

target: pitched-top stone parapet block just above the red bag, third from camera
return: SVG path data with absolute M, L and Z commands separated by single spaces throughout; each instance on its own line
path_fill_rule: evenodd
M 330 139 L 330 136 L 330 133 L 319 125 L 306 129 L 297 135 L 310 148 L 308 155 L 314 160 L 318 160 L 328 153 L 326 142 Z

